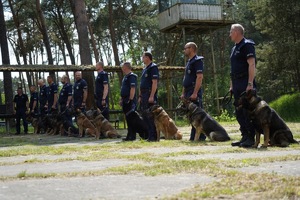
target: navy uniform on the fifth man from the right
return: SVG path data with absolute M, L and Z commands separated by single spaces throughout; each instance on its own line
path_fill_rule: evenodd
M 96 91 L 95 91 L 95 97 L 96 97 L 96 104 L 97 104 L 97 107 L 101 110 L 102 112 L 102 115 L 107 119 L 109 120 L 109 99 L 108 99 L 108 94 L 106 96 L 106 99 L 105 99 L 105 102 L 106 102 L 106 105 L 103 106 L 102 105 L 102 97 L 103 97 L 103 90 L 104 90 L 104 85 L 108 85 L 109 84 L 109 81 L 108 81 L 108 74 L 105 72 L 105 71 L 101 71 L 98 73 L 98 76 L 96 78 L 96 81 L 95 81 L 95 88 L 96 88 Z

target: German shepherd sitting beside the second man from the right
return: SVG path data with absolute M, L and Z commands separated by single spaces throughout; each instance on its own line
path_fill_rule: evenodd
M 204 133 L 212 141 L 230 140 L 225 129 L 193 102 L 183 100 L 176 109 L 180 114 L 186 114 L 189 122 L 196 129 L 194 141 L 197 141 L 201 133 Z

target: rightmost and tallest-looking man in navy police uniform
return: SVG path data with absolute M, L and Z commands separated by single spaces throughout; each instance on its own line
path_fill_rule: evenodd
M 244 27 L 233 24 L 230 29 L 230 38 L 235 43 L 231 50 L 231 82 L 230 91 L 233 92 L 235 102 L 244 91 L 256 88 L 255 85 L 255 43 L 244 37 Z M 250 122 L 245 109 L 236 109 L 236 119 L 240 124 L 242 138 L 232 146 L 252 147 L 254 144 L 254 127 Z

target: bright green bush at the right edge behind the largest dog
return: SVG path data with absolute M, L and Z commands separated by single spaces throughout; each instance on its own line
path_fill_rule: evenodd
M 300 93 L 286 94 L 269 105 L 285 121 L 300 122 Z

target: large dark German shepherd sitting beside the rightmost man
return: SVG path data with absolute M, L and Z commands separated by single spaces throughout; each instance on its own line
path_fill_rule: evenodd
M 248 110 L 248 114 L 255 128 L 256 139 L 253 147 L 260 143 L 260 134 L 264 134 L 262 147 L 287 147 L 290 143 L 298 143 L 283 119 L 262 98 L 257 96 L 256 90 L 244 92 L 238 100 L 238 109 Z

